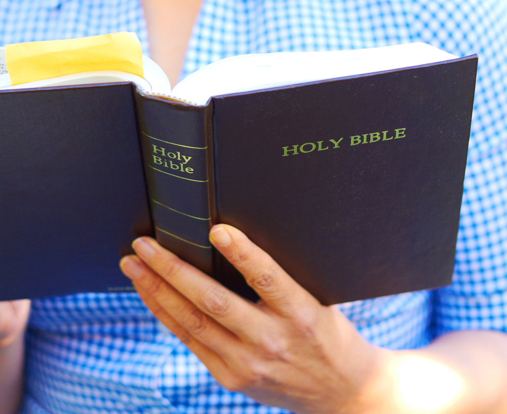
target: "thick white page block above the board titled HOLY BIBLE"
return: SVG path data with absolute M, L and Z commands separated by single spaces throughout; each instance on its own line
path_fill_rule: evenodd
M 331 52 L 240 55 L 190 74 L 171 96 L 204 105 L 211 96 L 379 72 L 455 59 L 424 43 Z

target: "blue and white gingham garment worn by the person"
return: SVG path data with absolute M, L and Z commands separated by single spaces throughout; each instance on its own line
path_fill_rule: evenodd
M 0 0 L 1 46 L 123 30 L 149 54 L 138 0 Z M 479 71 L 453 283 L 338 305 L 390 349 L 457 329 L 507 331 L 507 2 L 204 0 L 182 73 L 236 54 L 415 41 L 477 53 Z M 136 293 L 33 300 L 26 336 L 24 414 L 284 411 L 221 387 Z

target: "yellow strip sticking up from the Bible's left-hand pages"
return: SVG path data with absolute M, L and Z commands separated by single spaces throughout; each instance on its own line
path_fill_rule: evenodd
M 141 44 L 135 33 L 6 45 L 11 85 L 90 70 L 121 70 L 143 78 Z

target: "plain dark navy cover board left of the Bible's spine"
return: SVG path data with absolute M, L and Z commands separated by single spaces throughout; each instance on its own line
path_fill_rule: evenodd
M 0 94 L 0 299 L 133 290 L 118 262 L 152 234 L 132 87 Z

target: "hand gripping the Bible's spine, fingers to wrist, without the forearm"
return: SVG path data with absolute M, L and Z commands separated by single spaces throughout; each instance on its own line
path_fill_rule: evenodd
M 216 225 L 210 241 L 259 294 L 257 304 L 150 238 L 134 241 L 138 256 L 124 257 L 121 268 L 153 314 L 226 388 L 299 413 L 357 404 L 385 351 L 239 230 Z

